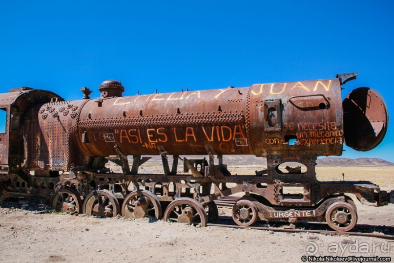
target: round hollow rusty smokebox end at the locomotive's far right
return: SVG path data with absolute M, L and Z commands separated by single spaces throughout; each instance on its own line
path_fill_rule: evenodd
M 369 151 L 383 140 L 389 115 L 383 98 L 372 88 L 356 88 L 343 101 L 345 143 Z

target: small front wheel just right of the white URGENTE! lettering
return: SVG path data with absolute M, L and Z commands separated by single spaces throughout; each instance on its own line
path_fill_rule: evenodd
M 336 202 L 327 209 L 326 221 L 333 230 L 347 232 L 356 225 L 357 212 L 350 203 Z

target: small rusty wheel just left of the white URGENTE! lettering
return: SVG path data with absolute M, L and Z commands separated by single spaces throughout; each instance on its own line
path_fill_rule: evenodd
M 242 199 L 232 207 L 231 215 L 237 225 L 251 226 L 258 219 L 258 210 L 252 201 Z

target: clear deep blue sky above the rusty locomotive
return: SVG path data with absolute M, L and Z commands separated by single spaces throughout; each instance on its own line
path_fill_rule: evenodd
M 107 79 L 124 95 L 333 78 L 393 108 L 394 1 L 0 0 L 0 92 L 27 86 L 80 99 Z M 384 141 L 344 157 L 394 161 Z

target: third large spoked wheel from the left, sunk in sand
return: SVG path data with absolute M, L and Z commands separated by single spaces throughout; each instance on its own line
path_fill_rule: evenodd
M 147 190 L 131 192 L 122 204 L 122 216 L 125 218 L 152 218 L 162 217 L 162 206 L 159 199 Z

